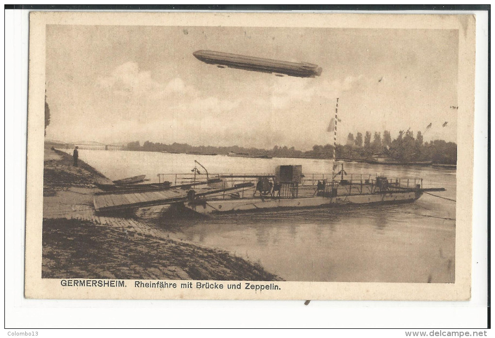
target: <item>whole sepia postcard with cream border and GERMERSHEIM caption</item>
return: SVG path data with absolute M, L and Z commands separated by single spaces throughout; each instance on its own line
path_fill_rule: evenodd
M 27 296 L 469 298 L 472 17 L 107 14 L 31 14 Z

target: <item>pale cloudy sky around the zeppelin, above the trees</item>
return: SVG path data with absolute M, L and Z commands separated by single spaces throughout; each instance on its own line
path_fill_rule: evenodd
M 47 139 L 273 148 L 399 130 L 456 141 L 458 31 L 47 26 Z M 218 68 L 200 49 L 323 68 L 316 78 Z M 380 81 L 381 80 L 381 81 Z M 442 127 L 448 122 L 446 127 Z M 426 129 L 432 123 L 432 127 Z

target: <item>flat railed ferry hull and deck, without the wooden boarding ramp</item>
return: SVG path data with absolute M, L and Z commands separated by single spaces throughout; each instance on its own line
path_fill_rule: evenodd
M 366 204 L 394 204 L 414 202 L 424 192 L 445 191 L 444 188 L 423 188 L 423 179 L 388 179 L 384 176 L 363 175 L 344 179 L 344 165 L 340 180 L 304 179 L 302 166 L 282 165 L 273 177 L 260 176 L 253 187 L 236 193 L 216 196 L 195 196 L 190 192 L 181 206 L 200 214 L 294 209 L 314 207 L 343 207 Z M 307 184 L 311 180 L 313 184 Z M 306 184 L 304 184 L 306 183 Z

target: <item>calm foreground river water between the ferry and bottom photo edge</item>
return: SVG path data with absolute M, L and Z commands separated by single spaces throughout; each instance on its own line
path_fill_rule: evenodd
M 405 204 L 225 215 L 176 220 L 173 236 L 194 234 L 187 238 L 292 281 L 453 282 L 454 222 L 425 222 L 409 210 L 427 211 Z

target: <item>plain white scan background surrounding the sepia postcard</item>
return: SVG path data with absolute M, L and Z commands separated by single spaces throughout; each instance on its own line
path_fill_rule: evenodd
M 23 297 L 28 13 L 28 10 L 5 10 L 5 166 L 2 166 L 5 169 L 5 327 L 17 328 L 5 330 L 5 336 L 14 331 L 38 331 L 39 337 L 68 334 L 60 330 L 21 328 L 486 328 L 487 12 L 473 12 L 477 46 L 472 299 L 465 302 L 311 301 L 308 306 L 303 304 L 304 300 L 32 300 Z M 383 331 L 379 335 L 405 337 L 403 331 Z M 94 333 L 70 332 L 76 337 L 90 334 Z M 366 331 L 342 334 L 378 335 Z

